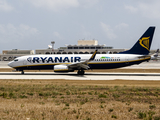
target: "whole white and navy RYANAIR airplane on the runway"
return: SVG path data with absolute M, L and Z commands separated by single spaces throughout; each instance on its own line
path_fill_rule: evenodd
M 8 66 L 16 71 L 53 70 L 54 72 L 74 72 L 84 75 L 88 69 L 113 69 L 149 61 L 150 47 L 155 27 L 149 27 L 135 45 L 117 54 L 64 54 L 64 55 L 28 55 L 14 59 Z

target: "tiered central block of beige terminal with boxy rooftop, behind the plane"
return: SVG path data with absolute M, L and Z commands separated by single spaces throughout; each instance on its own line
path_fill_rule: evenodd
M 78 40 L 77 45 L 67 45 L 58 49 L 39 49 L 35 50 L 36 54 L 93 54 L 95 49 L 98 49 L 97 54 L 114 54 L 124 49 L 113 49 L 106 45 L 99 45 L 97 40 Z

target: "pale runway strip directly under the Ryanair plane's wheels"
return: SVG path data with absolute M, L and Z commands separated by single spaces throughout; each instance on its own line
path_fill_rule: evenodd
M 42 79 L 42 80 L 160 80 L 160 73 L 54 73 L 54 72 L 0 72 L 0 79 Z

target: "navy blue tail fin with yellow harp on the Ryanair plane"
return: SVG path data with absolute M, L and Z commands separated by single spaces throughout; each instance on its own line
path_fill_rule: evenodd
M 120 52 L 119 54 L 142 54 L 148 55 L 150 51 L 150 46 L 152 43 L 152 38 L 154 34 L 155 27 L 149 27 L 148 30 L 140 37 L 136 44 L 127 51 Z

